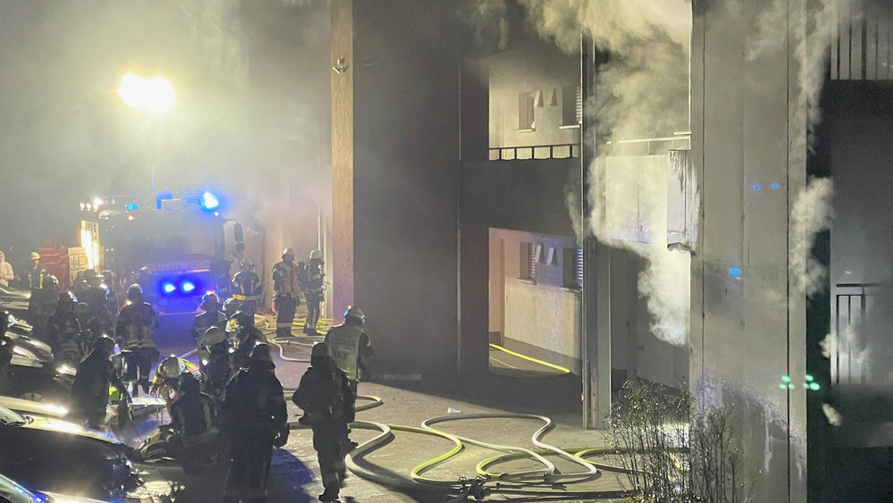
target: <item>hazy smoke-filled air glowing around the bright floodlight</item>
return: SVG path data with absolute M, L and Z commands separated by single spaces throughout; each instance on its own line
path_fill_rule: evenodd
M 71 214 L 85 198 L 150 194 L 153 178 L 155 191 L 231 194 L 230 210 L 245 222 L 288 197 L 328 197 L 328 174 L 318 169 L 328 155 L 328 8 L 309 7 L 0 2 L 3 205 L 21 219 L 4 231 L 29 232 L 4 239 L 68 240 L 71 222 L 47 215 Z M 126 73 L 171 82 L 171 112 L 125 105 L 117 90 Z M 283 180 L 285 172 L 302 183 Z M 53 188 L 39 181 L 48 179 Z M 305 193 L 289 194 L 293 187 Z M 14 211 L 23 206 L 36 207 Z

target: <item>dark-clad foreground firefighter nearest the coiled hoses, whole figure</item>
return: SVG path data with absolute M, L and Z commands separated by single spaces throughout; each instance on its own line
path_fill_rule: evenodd
M 346 475 L 347 420 L 354 416 L 356 396 L 345 373 L 338 369 L 325 342 L 313 346 L 310 365 L 291 401 L 305 412 L 313 428 L 313 449 L 320 463 L 320 501 L 338 500 L 338 490 Z

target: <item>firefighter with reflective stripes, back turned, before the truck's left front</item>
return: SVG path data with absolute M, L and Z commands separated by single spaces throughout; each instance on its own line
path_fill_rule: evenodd
M 149 391 L 149 373 L 160 355 L 152 340 L 152 329 L 158 326 L 158 316 L 143 300 L 143 289 L 139 285 L 130 285 L 125 298 L 127 306 L 121 307 L 114 333 L 121 350 L 129 351 L 126 357 L 129 378 L 134 380 L 133 396 L 137 396 L 138 386 L 142 386 L 144 393 Z

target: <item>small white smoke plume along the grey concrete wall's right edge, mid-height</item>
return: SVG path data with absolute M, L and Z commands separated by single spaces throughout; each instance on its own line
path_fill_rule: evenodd
M 789 277 L 797 291 L 812 297 L 823 288 L 828 271 L 812 256 L 815 236 L 830 228 L 833 218 L 830 179 L 812 179 L 794 199 L 790 211 Z

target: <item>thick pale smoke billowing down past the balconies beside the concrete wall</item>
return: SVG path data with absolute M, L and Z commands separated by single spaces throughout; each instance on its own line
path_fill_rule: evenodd
M 659 340 L 684 346 L 689 317 L 689 256 L 667 250 L 667 160 L 625 157 L 622 168 L 605 172 L 609 141 L 672 136 L 689 129 L 691 5 L 685 0 L 522 0 L 527 19 L 543 38 L 565 52 L 580 47 L 580 28 L 609 61 L 597 71 L 596 92 L 587 103 L 596 124 L 599 158 L 590 167 L 592 213 L 588 230 L 599 241 L 624 247 L 645 259 L 638 294 L 652 316 Z M 635 180 L 610 180 L 622 171 Z M 621 175 L 622 176 L 622 175 Z M 631 192 L 638 195 L 630 199 Z M 569 198 L 572 220 L 575 200 Z M 697 213 L 696 213 L 697 214 Z M 637 222 L 629 222 L 637 215 Z M 577 222 L 574 222 L 575 224 Z M 637 228 L 639 235 L 630 236 Z

